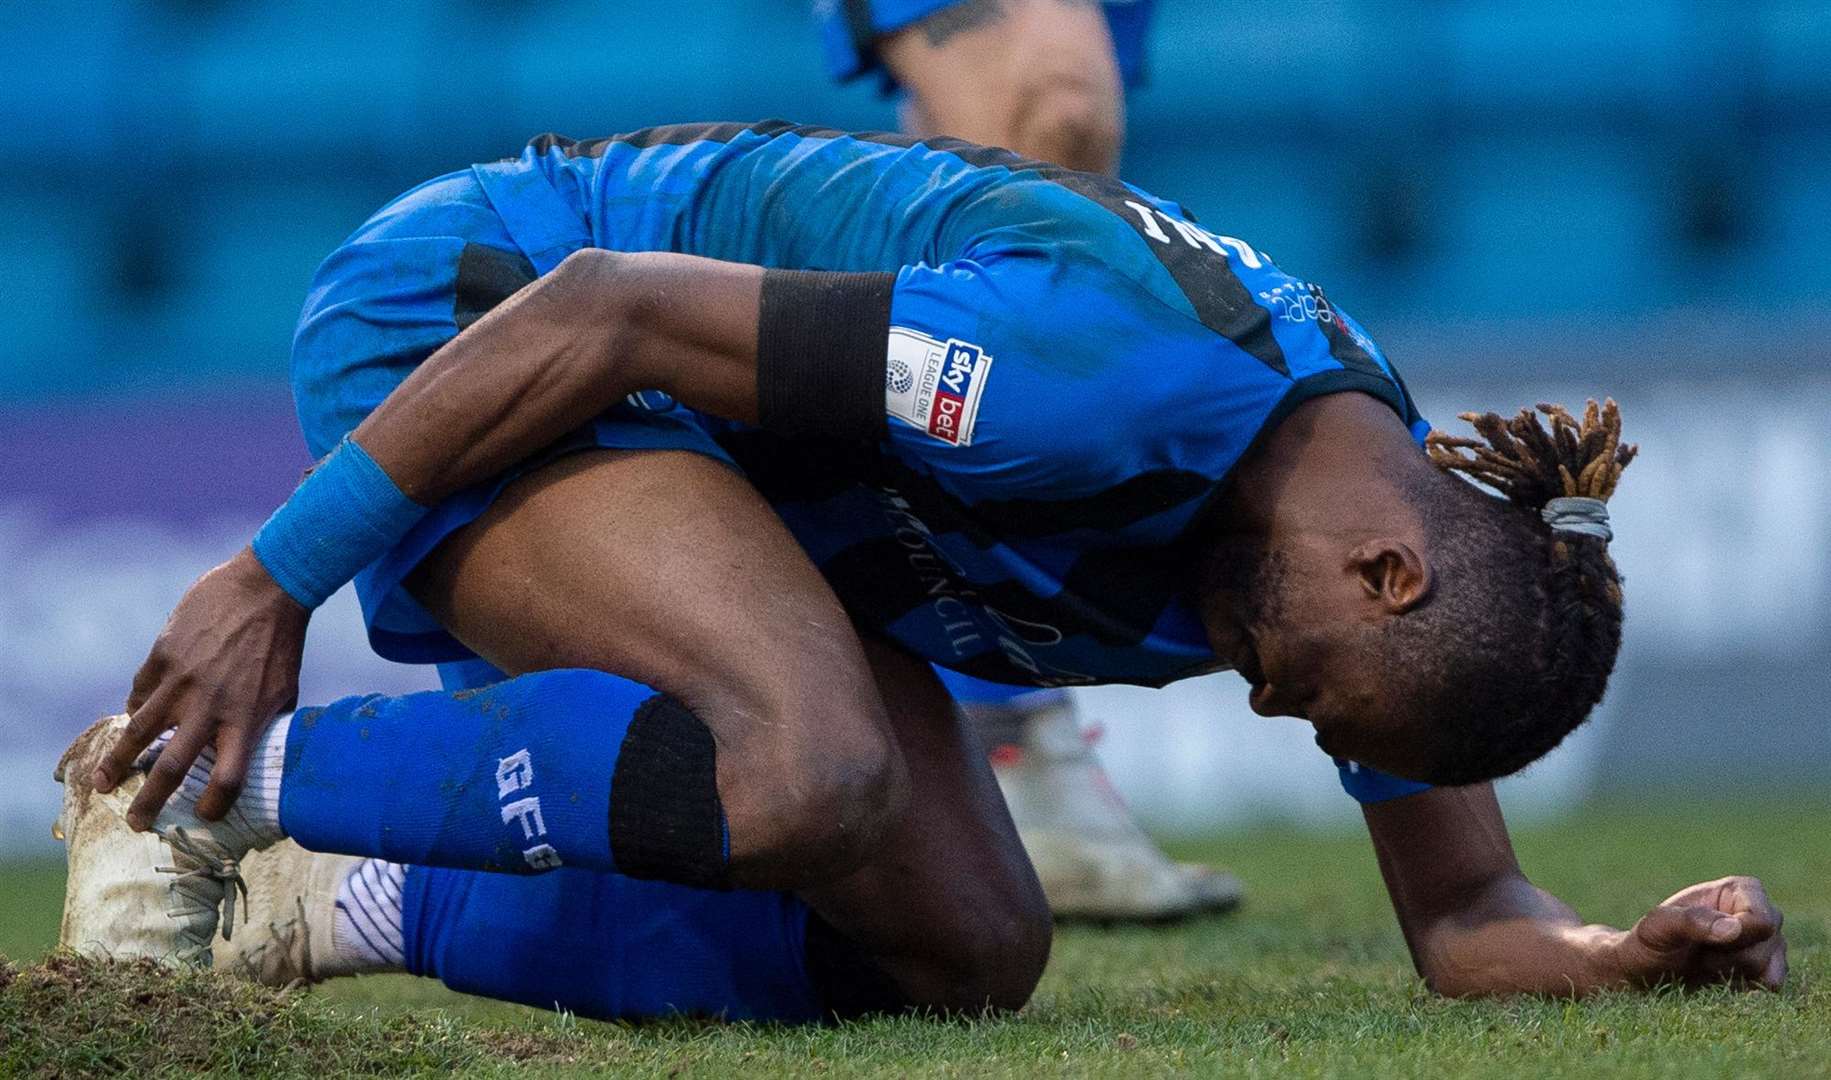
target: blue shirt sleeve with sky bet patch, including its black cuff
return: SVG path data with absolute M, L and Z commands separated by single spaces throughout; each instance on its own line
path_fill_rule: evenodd
M 884 441 L 981 494 L 1099 491 L 1188 397 L 1174 359 L 1196 329 L 1097 262 L 1046 247 L 895 275 L 767 271 L 760 423 Z

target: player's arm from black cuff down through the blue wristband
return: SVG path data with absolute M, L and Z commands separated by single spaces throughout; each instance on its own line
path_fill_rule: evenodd
M 588 249 L 449 340 L 262 525 L 251 555 L 308 611 L 428 507 L 637 390 L 754 419 L 760 267 Z M 780 306 L 778 306 L 780 308 Z

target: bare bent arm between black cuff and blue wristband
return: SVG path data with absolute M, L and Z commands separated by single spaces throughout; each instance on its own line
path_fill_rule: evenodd
M 419 364 L 352 437 L 434 505 L 637 390 L 754 419 L 760 278 L 692 256 L 582 251 Z

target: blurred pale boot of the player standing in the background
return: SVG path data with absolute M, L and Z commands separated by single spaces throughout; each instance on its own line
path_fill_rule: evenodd
M 963 710 L 987 740 L 992 772 L 1058 919 L 1166 921 L 1240 906 L 1240 879 L 1174 862 L 1144 835 L 1071 703 Z

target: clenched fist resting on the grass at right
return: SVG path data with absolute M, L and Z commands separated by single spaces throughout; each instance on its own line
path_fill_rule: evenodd
M 1778 990 L 1787 977 L 1780 908 L 1752 877 L 1723 877 L 1674 893 L 1609 946 L 1635 985 L 1738 983 Z

